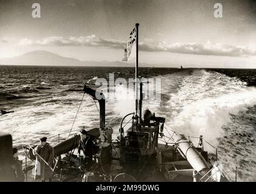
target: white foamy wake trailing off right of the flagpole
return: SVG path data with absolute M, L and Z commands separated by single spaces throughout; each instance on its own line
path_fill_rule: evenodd
M 202 70 L 183 78 L 178 92 L 170 96 L 167 123 L 172 130 L 209 136 L 214 141 L 230 122 L 230 115 L 254 105 L 255 96 L 256 89 L 246 88 L 239 79 Z

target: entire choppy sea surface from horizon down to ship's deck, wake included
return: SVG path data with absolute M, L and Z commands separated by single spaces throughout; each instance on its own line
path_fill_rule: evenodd
M 73 135 L 83 127 L 98 127 L 98 104 L 88 95 L 83 98 L 83 86 L 97 89 L 96 79 L 109 81 L 109 73 L 128 82 L 135 69 L 0 65 L 0 109 L 13 111 L 0 116 L 0 131 L 10 133 L 13 145 L 20 147 L 41 136 L 48 136 L 54 145 L 58 134 L 64 133 L 60 141 L 66 139 L 70 129 Z M 172 135 L 171 130 L 203 135 L 217 147 L 218 159 L 232 178 L 238 167 L 238 181 L 256 181 L 255 69 L 140 68 L 139 74 L 161 79 L 161 99 L 146 98 L 143 109 L 166 118 L 166 136 Z M 113 128 L 113 138 L 123 116 L 135 111 L 134 100 L 123 96 L 127 91 L 126 85 L 118 84 L 107 96 L 106 124 Z M 198 139 L 192 140 L 197 146 Z M 206 142 L 204 148 L 215 153 Z

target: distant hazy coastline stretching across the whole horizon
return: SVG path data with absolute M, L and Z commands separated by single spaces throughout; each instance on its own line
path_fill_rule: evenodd
M 36 50 L 24 53 L 13 58 L 0 58 L 0 65 L 22 65 L 22 66 L 51 66 L 51 67 L 135 67 L 135 62 L 123 61 L 80 61 L 79 59 L 67 58 L 45 50 Z M 140 67 L 150 68 L 174 68 L 180 69 L 181 64 L 148 64 L 140 62 Z M 183 69 L 245 69 L 245 68 L 225 68 L 225 67 L 195 67 L 197 64 L 182 64 Z M 216 64 L 216 66 L 218 66 Z M 246 68 L 246 69 L 255 69 Z

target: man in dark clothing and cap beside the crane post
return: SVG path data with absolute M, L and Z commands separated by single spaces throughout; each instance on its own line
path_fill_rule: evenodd
M 78 158 L 80 157 L 81 150 L 84 152 L 86 169 L 89 169 L 92 166 L 93 136 L 90 136 L 84 129 L 81 130 L 81 139 L 78 145 Z

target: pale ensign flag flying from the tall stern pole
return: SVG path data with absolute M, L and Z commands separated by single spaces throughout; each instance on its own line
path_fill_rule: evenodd
M 124 46 L 124 58 L 122 61 L 130 61 L 136 56 L 136 28 L 133 28 L 129 39 Z

